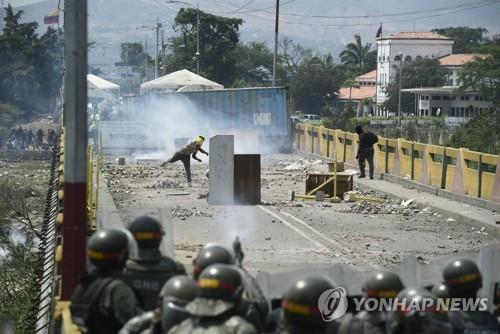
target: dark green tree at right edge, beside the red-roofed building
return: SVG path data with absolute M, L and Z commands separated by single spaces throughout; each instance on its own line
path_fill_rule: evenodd
M 483 46 L 485 57 L 465 64 L 460 73 L 461 89 L 473 88 L 500 107 L 500 43 Z

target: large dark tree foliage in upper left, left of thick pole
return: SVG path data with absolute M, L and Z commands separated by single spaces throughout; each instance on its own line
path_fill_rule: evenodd
M 49 113 L 62 84 L 61 31 L 38 36 L 36 22 L 20 23 L 22 11 L 5 8 L 0 35 L 0 101 L 26 116 Z

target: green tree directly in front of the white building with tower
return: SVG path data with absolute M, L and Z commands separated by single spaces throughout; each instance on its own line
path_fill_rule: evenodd
M 396 74 L 387 88 L 388 98 L 384 102 L 384 107 L 393 113 L 398 110 L 400 71 L 401 68 L 397 67 Z M 439 64 L 438 59 L 415 59 L 412 62 L 402 64 L 401 88 L 444 86 L 448 73 L 449 71 Z M 402 93 L 401 112 L 410 114 L 414 110 L 415 98 L 413 94 Z

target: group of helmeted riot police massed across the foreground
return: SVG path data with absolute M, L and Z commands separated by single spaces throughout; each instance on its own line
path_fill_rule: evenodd
M 323 299 L 325 292 L 330 296 L 339 287 L 323 275 L 300 277 L 282 298 L 271 301 L 245 270 L 239 239 L 232 249 L 217 243 L 203 246 L 188 274 L 182 264 L 161 254 L 163 236 L 158 220 L 140 216 L 127 229 L 97 230 L 90 237 L 90 269 L 70 306 L 82 332 L 500 334 L 496 316 L 487 309 L 439 310 L 428 303 L 476 298 L 483 278 L 468 259 L 451 261 L 443 282 L 427 288 L 405 287 L 396 273 L 377 270 L 366 279 L 361 297 L 404 302 L 392 310 L 367 303 L 360 309 L 346 307 L 347 313 L 335 319 L 330 316 L 339 299 Z

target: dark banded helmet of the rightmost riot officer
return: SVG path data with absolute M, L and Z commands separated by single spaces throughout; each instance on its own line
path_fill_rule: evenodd
M 469 259 L 451 261 L 443 270 L 450 297 L 472 296 L 483 286 L 479 268 Z

